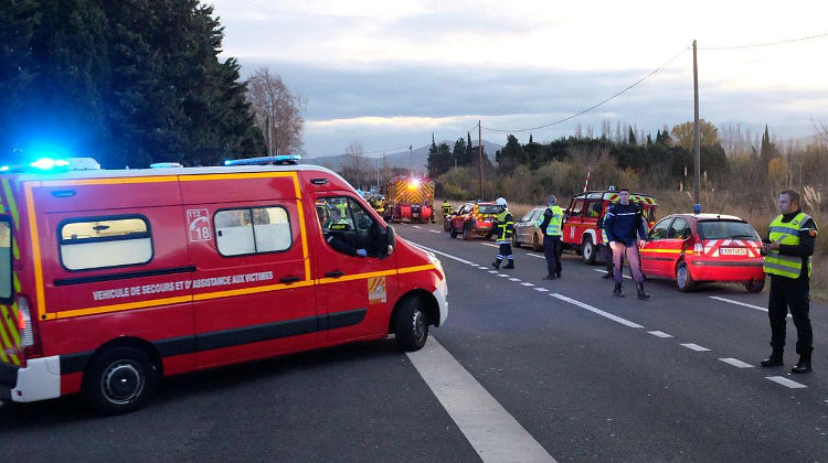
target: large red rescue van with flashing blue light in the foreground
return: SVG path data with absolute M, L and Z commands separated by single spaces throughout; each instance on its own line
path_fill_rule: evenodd
M 274 160 L 294 162 L 0 169 L 0 398 L 120 413 L 161 376 L 390 333 L 421 348 L 448 310 L 439 260 L 336 173 Z

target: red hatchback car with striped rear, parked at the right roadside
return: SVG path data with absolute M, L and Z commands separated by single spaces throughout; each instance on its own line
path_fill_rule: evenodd
M 733 281 L 762 291 L 761 247 L 751 224 L 719 214 L 669 215 L 639 243 L 644 272 L 676 280 L 681 291 L 692 291 L 700 281 Z

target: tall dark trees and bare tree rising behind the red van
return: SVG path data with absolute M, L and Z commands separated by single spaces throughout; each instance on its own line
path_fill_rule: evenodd
M 3 4 L 0 157 L 6 162 L 50 153 L 93 155 L 112 168 L 159 161 L 215 165 L 265 153 L 265 119 L 288 129 L 284 140 L 272 134 L 270 144 L 301 144 L 300 115 L 298 126 L 291 125 L 297 108 L 285 116 L 268 100 L 273 118 L 263 117 L 265 108 L 252 110 L 237 61 L 219 60 L 224 31 L 211 6 L 198 0 Z M 256 96 L 266 94 L 265 84 L 280 83 L 277 75 L 262 74 L 254 76 Z

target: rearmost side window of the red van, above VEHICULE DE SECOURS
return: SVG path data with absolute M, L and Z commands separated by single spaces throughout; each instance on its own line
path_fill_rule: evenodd
M 57 229 L 61 263 L 91 270 L 147 263 L 152 236 L 144 216 L 104 216 L 63 220 Z

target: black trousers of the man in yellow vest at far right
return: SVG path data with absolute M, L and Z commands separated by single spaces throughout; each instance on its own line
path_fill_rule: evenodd
M 796 326 L 796 353 L 814 351 L 814 331 L 810 327 L 810 283 L 805 279 L 771 277 L 771 297 L 767 301 L 767 317 L 771 320 L 771 347 L 782 352 L 785 347 L 785 316 L 790 316 Z

